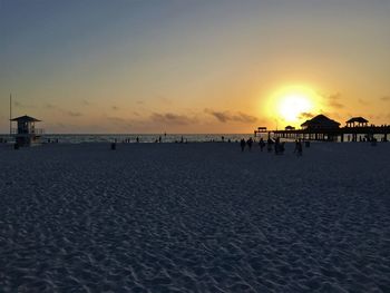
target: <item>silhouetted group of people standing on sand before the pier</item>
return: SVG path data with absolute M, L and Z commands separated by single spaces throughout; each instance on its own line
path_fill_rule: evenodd
M 245 147 L 247 147 L 248 150 L 251 152 L 253 143 L 254 143 L 254 140 L 253 140 L 252 137 L 250 137 L 247 140 L 242 138 L 241 141 L 240 141 L 241 152 L 244 152 Z M 260 140 L 259 140 L 259 147 L 260 147 L 261 152 L 263 152 L 264 147 L 266 146 L 267 152 L 272 153 L 272 150 L 274 150 L 275 155 L 282 155 L 284 153 L 284 150 L 285 150 L 284 144 L 285 143 L 284 141 L 282 143 L 279 137 L 276 137 L 275 140 L 272 140 L 271 138 L 269 138 L 266 140 L 266 143 L 264 141 L 263 138 L 260 138 Z M 298 156 L 302 156 L 303 146 L 302 146 L 302 140 L 301 139 L 296 139 L 295 140 L 294 153 Z

